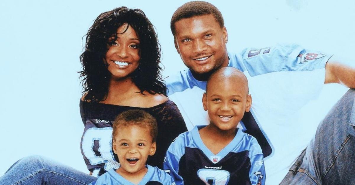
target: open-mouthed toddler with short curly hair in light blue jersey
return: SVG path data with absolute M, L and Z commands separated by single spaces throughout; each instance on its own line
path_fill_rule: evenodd
M 146 165 L 154 155 L 157 121 L 142 110 L 128 110 L 113 122 L 113 150 L 120 167 L 101 175 L 91 185 L 175 185 L 174 180 L 158 167 Z

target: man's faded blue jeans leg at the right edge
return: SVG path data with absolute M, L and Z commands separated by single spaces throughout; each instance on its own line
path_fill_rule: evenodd
M 280 185 L 355 184 L 355 89 L 333 106 Z

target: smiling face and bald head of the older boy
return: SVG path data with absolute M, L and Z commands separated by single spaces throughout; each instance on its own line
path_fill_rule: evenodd
M 235 75 L 233 69 L 227 69 L 209 79 L 202 98 L 203 108 L 208 111 L 210 124 L 222 131 L 234 130 L 244 112 L 250 110 L 251 96 L 244 77 Z

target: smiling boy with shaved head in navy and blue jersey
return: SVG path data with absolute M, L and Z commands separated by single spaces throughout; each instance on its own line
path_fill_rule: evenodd
M 232 67 L 217 70 L 202 98 L 210 123 L 180 134 L 164 169 L 177 185 L 264 184 L 263 154 L 256 139 L 237 128 L 251 106 L 248 81 Z

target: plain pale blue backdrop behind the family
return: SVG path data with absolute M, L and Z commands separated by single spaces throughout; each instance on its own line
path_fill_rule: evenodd
M 76 73 L 81 70 L 82 37 L 101 12 L 141 8 L 158 30 L 167 76 L 185 68 L 170 32 L 171 15 L 184 2 L 1 1 L 0 175 L 31 154 L 87 172 L 80 152 L 82 87 Z M 211 2 L 225 18 L 229 51 L 294 42 L 350 58 L 345 61 L 354 65 L 354 1 Z M 313 123 L 308 132 L 345 91 L 326 85 L 320 98 L 305 106 L 300 119 Z

